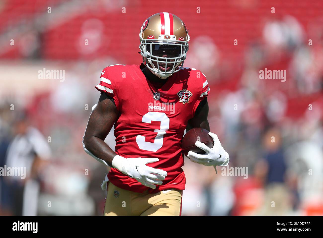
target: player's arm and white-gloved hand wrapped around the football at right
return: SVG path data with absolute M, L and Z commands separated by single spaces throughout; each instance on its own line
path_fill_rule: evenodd
M 188 121 L 186 130 L 194 127 L 201 127 L 210 131 L 209 122 L 207 120 L 208 113 L 209 106 L 205 97 L 197 107 L 194 117 Z M 229 154 L 223 149 L 217 135 L 212 132 L 209 132 L 209 135 L 212 137 L 214 142 L 213 148 L 209 148 L 204 143 L 197 141 L 195 142 L 195 145 L 205 151 L 205 154 L 198 154 L 193 151 L 189 151 L 187 157 L 198 164 L 212 165 L 214 168 L 216 165 L 228 165 L 230 160 Z

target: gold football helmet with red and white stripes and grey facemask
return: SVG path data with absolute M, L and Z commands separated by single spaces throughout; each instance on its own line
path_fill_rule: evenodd
M 181 70 L 190 36 L 184 22 L 174 14 L 152 15 L 141 26 L 140 51 L 143 63 L 161 79 Z

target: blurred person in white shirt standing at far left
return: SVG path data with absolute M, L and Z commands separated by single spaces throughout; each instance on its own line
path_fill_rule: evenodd
M 43 160 L 50 158 L 51 151 L 43 135 L 29 126 L 25 112 L 16 115 L 13 128 L 15 137 L 9 145 L 5 165 L 25 169 L 26 177 L 5 177 L 7 191 L 2 192 L 8 192 L 10 196 L 10 202 L 5 206 L 9 206 L 13 215 L 36 215 L 39 194 L 37 176 Z

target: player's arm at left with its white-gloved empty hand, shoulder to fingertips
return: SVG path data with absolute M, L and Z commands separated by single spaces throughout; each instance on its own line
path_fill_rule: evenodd
M 104 142 L 118 116 L 119 111 L 113 98 L 102 93 L 89 118 L 83 137 L 84 150 L 101 163 L 116 168 L 141 184 L 155 189 L 156 184 L 162 184 L 167 172 L 146 164 L 159 161 L 158 158 L 124 158 L 113 152 Z

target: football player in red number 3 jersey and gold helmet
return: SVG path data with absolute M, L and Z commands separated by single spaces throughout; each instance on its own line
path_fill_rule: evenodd
M 146 19 L 140 30 L 141 65 L 102 70 L 101 92 L 83 137 L 84 150 L 111 167 L 104 215 L 181 215 L 185 175 L 184 130 L 207 121 L 210 88 L 201 71 L 183 68 L 190 37 L 171 13 Z M 115 152 L 104 142 L 114 125 Z M 197 141 L 205 154 L 189 152 L 195 163 L 226 166 L 229 155 L 210 132 L 214 147 Z

